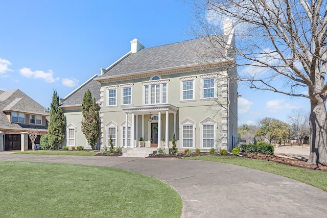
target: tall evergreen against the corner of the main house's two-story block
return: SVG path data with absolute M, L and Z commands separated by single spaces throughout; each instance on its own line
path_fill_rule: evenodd
M 81 110 L 84 117 L 81 122 L 82 132 L 89 145 L 94 148 L 100 135 L 100 117 L 96 99 L 92 100 L 89 90 L 84 93 Z

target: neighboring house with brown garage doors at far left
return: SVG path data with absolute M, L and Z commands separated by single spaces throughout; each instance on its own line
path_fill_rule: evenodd
M 38 143 L 40 135 L 48 133 L 47 116 L 49 112 L 44 107 L 19 89 L 0 90 L 0 139 L 3 139 L 0 151 L 21 150 L 21 133 L 32 128 L 39 132 L 35 140 Z M 32 149 L 31 146 L 28 137 L 28 149 Z

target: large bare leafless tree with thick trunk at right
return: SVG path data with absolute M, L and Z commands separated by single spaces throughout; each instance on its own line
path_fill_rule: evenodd
M 190 0 L 192 1 L 192 0 Z M 327 3 L 322 0 L 203 0 L 194 30 L 237 54 L 238 79 L 250 88 L 310 100 L 309 163 L 327 164 Z M 235 27 L 235 46 L 221 21 Z M 214 37 L 215 36 L 215 37 Z M 221 55 L 218 53 L 218 55 Z M 232 59 L 226 59 L 233 61 Z M 309 106 L 309 105 L 308 105 Z

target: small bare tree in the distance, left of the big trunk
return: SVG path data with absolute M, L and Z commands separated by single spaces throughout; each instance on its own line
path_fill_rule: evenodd
M 309 135 L 309 114 L 303 110 L 293 110 L 289 120 L 292 136 L 301 145 L 302 140 Z

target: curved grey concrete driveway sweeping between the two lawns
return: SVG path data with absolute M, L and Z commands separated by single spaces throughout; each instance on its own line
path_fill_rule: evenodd
M 178 191 L 183 201 L 181 217 L 327 215 L 327 192 L 241 166 L 179 159 L 15 155 L 8 152 L 1 152 L 0 160 L 100 165 L 153 176 Z

